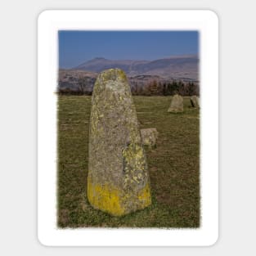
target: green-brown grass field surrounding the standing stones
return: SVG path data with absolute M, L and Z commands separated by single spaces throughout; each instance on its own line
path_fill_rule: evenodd
M 91 97 L 59 96 L 58 227 L 200 227 L 199 110 L 184 97 L 184 113 L 168 113 L 171 97 L 133 97 L 140 128 L 156 128 L 146 149 L 152 204 L 112 217 L 88 203 L 88 130 Z

